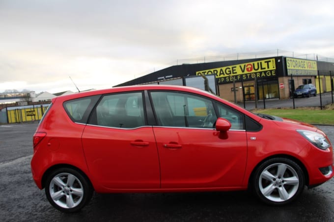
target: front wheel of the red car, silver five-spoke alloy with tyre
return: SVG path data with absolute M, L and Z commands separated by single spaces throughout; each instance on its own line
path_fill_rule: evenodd
M 270 205 L 284 205 L 304 190 L 305 176 L 300 166 L 287 158 L 273 158 L 263 162 L 255 171 L 255 195 Z

